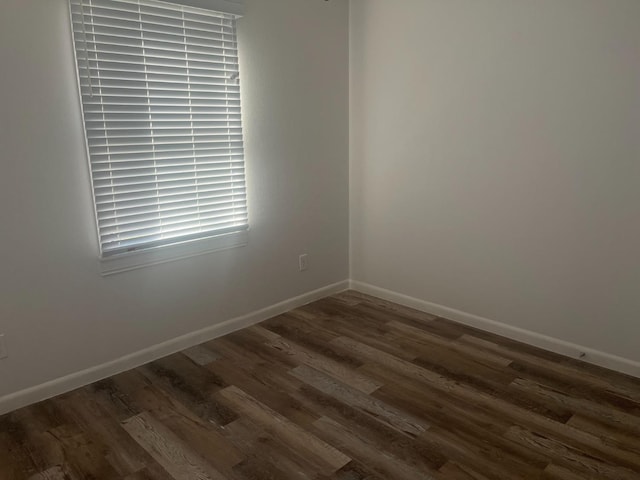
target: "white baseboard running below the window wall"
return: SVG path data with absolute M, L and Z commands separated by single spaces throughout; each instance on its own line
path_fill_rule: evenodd
M 41 385 L 36 385 L 34 387 L 0 397 L 0 415 L 55 397 L 56 395 L 60 395 L 65 392 L 75 390 L 76 388 L 97 382 L 98 380 L 102 380 L 126 370 L 131 370 L 132 368 L 166 357 L 167 355 L 180 352 L 186 348 L 193 347 L 194 345 L 198 345 L 250 325 L 260 323 L 276 315 L 280 315 L 294 308 L 306 305 L 307 303 L 344 291 L 348 287 L 348 280 L 327 285 L 326 287 L 284 300 L 276 303 L 275 305 L 153 345 L 149 348 L 145 348 L 144 350 L 103 363 L 102 365 L 97 365 L 80 372 L 51 380 Z

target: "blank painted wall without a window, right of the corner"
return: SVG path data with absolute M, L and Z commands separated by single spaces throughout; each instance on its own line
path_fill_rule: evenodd
M 352 278 L 640 360 L 640 2 L 350 25 Z

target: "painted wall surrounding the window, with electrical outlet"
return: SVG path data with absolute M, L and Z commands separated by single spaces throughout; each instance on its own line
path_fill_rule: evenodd
M 0 2 L 0 397 L 348 278 L 348 4 L 245 3 L 249 244 L 102 277 L 67 0 Z

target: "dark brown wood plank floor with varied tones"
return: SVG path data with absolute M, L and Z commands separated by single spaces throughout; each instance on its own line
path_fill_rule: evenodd
M 639 472 L 640 381 L 356 292 L 0 417 L 2 480 Z

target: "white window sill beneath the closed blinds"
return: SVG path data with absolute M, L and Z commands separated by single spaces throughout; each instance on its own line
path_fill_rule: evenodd
M 100 260 L 100 273 L 102 276 L 115 275 L 116 273 L 205 255 L 219 250 L 243 247 L 248 241 L 249 232 L 243 230 L 139 252 L 123 253 L 113 257 L 102 258 Z

